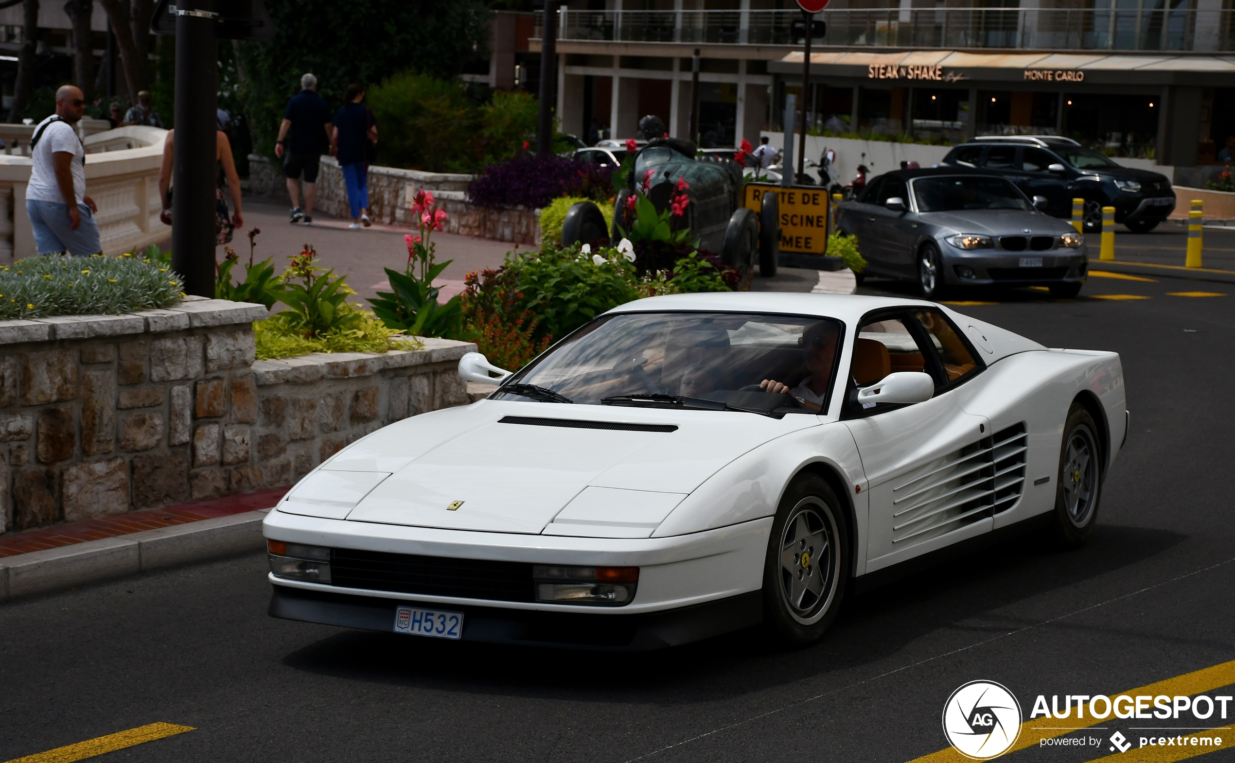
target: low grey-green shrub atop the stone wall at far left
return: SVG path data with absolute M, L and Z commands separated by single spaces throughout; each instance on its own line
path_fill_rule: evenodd
M 0 320 L 170 307 L 183 288 L 170 267 L 143 256 L 27 257 L 0 267 Z

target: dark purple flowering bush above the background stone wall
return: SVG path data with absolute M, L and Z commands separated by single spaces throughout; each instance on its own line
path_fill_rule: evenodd
M 590 162 L 524 153 L 484 168 L 468 183 L 467 195 L 479 206 L 541 209 L 558 196 L 605 202 L 613 195 L 611 173 L 611 168 Z

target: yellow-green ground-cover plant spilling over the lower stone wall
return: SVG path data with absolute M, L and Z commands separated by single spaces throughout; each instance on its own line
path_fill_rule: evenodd
M 257 341 L 257 359 L 274 361 L 311 352 L 377 352 L 391 349 L 421 349 L 424 343 L 387 328 L 372 312 L 356 310 L 343 302 L 340 310 L 354 319 L 347 328 L 335 328 L 316 337 L 306 337 L 290 312 L 277 312 L 264 321 L 253 323 Z

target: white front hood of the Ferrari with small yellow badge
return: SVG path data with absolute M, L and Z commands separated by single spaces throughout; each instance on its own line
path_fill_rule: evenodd
M 563 519 L 582 525 L 621 523 L 622 516 L 614 515 L 627 510 L 663 519 L 742 453 L 819 423 L 805 414 L 778 420 L 735 411 L 483 400 L 406 419 L 358 441 L 296 485 L 280 510 L 325 516 L 298 509 L 298 494 L 310 495 L 319 474 L 329 494 L 337 479 L 321 480 L 353 472 L 372 478 L 363 478 L 367 493 L 341 499 L 354 505 L 348 521 L 540 533 L 568 504 Z M 646 431 L 651 427 L 676 428 Z M 659 522 L 657 516 L 634 519 L 643 537 Z

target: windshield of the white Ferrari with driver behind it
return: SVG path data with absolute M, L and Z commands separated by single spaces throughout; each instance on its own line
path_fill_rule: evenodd
M 499 394 L 546 402 L 819 412 L 826 410 L 840 338 L 841 322 L 834 319 L 619 314 L 567 337 Z M 764 391 L 763 380 L 788 391 Z

